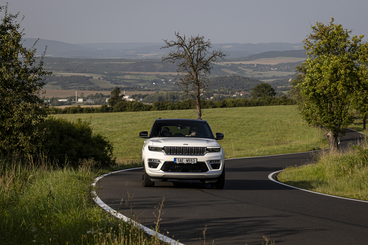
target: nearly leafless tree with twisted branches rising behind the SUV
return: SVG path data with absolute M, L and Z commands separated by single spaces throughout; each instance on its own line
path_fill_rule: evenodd
M 197 119 L 201 118 L 201 90 L 208 86 L 208 76 L 211 73 L 212 62 L 219 59 L 224 60 L 227 56 L 221 48 L 213 50 L 211 42 L 205 41 L 204 36 L 190 36 L 186 38 L 176 33 L 176 41 L 163 40 L 165 46 L 161 48 L 174 47 L 174 51 L 166 53 L 162 57 L 162 62 L 168 61 L 177 64 L 178 73 L 176 84 L 184 93 L 192 94 L 195 97 L 195 107 L 197 109 Z M 194 92 L 191 92 L 194 89 Z

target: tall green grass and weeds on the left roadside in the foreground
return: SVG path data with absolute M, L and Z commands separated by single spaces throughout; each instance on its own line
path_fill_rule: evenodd
M 72 169 L 39 159 L 0 162 L 0 243 L 162 244 L 95 205 L 93 160 Z

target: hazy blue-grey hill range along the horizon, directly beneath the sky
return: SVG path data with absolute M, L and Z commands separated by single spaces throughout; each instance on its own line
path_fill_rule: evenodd
M 24 46 L 31 48 L 35 38 L 25 38 Z M 41 55 L 47 46 L 46 55 L 64 58 L 127 58 L 160 59 L 170 49 L 160 49 L 164 43 L 78 43 L 70 44 L 54 40 L 40 39 L 37 55 Z M 245 57 L 267 51 L 299 50 L 302 43 L 214 43 L 214 49 L 222 47 L 227 58 Z

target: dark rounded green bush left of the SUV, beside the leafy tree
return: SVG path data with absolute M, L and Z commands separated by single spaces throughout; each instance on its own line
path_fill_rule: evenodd
M 101 134 L 93 134 L 91 122 L 77 119 L 70 122 L 64 118 L 50 117 L 45 120 L 45 128 L 49 133 L 41 151 L 54 158 L 59 166 L 67 162 L 73 167 L 78 166 L 82 159 L 93 158 L 102 166 L 115 163 L 113 144 Z

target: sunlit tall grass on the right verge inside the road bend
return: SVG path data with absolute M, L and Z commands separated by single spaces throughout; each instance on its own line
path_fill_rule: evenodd
M 323 151 L 314 163 L 287 167 L 277 179 L 311 191 L 368 200 L 367 139 L 347 150 Z

